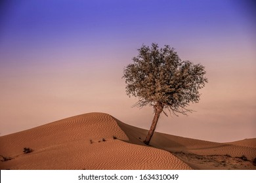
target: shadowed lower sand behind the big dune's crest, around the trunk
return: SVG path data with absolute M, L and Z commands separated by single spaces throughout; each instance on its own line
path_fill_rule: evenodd
M 118 123 L 134 143 L 142 143 L 148 133 Z M 256 139 L 218 143 L 155 132 L 150 145 L 171 152 L 193 169 L 256 169 Z

